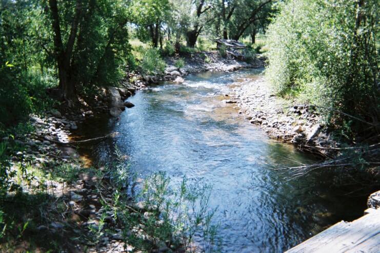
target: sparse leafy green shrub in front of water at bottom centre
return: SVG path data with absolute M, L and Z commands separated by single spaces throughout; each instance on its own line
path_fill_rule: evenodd
M 140 198 L 147 212 L 125 213 L 128 229 L 143 227 L 143 231 L 130 233 L 128 242 L 139 250 L 167 243 L 190 249 L 194 235 L 199 233 L 207 240 L 204 249 L 212 252 L 218 241 L 217 226 L 211 223 L 216 208 L 208 210 L 212 187 L 188 185 L 185 178 L 179 188 L 172 189 L 169 184 L 170 178 L 162 172 L 145 179 Z

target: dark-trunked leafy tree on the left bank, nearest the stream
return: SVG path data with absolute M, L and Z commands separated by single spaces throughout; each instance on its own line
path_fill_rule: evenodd
M 56 62 L 62 98 L 74 99 L 78 85 L 116 81 L 120 57 L 129 53 L 126 10 L 118 0 L 48 0 L 54 46 L 42 46 Z

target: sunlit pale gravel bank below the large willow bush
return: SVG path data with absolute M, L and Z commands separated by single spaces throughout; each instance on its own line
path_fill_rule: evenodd
M 336 155 L 334 149 L 340 144 L 332 139 L 331 130 L 321 122 L 321 115 L 295 100 L 276 97 L 264 78 L 248 80 L 234 88 L 233 93 L 232 99 L 226 102 L 236 103 L 240 113 L 270 138 L 324 157 Z

